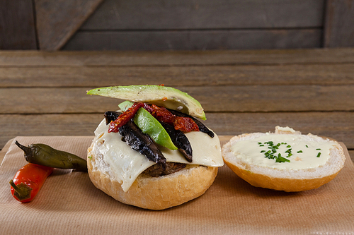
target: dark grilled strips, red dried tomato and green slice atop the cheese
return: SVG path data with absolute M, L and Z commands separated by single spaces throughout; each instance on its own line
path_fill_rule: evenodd
M 164 168 L 166 167 L 166 161 L 161 162 L 163 158 L 156 155 L 156 153 L 152 154 L 149 150 L 150 142 L 168 147 L 171 150 L 178 150 L 188 162 L 193 162 L 192 147 L 184 133 L 202 131 L 210 135 L 210 137 L 214 137 L 214 133 L 203 123 L 188 114 L 183 114 L 173 109 L 159 107 L 156 104 L 149 105 L 144 102 L 133 103 L 130 101 L 122 102 L 118 106 L 123 113 L 105 112 L 105 121 L 109 125 L 108 132 L 119 132 L 123 137 L 136 135 L 135 138 L 144 138 L 139 141 L 135 140 L 135 138 L 125 138 L 125 141 L 132 149 L 144 155 L 146 153 L 148 159 L 159 162 Z M 130 133 L 130 128 L 132 128 L 130 120 L 133 120 L 136 125 L 134 130 L 139 129 L 141 132 L 139 135 L 136 130 L 135 133 Z M 130 127 L 122 128 L 125 125 Z

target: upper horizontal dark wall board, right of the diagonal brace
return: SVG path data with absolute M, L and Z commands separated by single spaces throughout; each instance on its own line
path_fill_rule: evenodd
M 323 0 L 106 0 L 81 29 L 193 30 L 321 27 L 323 13 Z

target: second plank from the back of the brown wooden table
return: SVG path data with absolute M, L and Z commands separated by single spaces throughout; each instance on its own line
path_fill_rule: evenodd
M 100 78 L 100 79 L 99 79 Z M 354 63 L 214 66 L 0 66 L 0 88 L 110 85 L 354 85 Z

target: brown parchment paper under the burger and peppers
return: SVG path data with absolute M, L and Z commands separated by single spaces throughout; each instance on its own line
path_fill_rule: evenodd
M 229 140 L 219 136 L 222 144 Z M 91 137 L 17 137 L 86 157 Z M 124 205 L 87 173 L 56 169 L 31 203 L 18 203 L 8 181 L 26 164 L 11 140 L 0 167 L 0 234 L 354 234 L 354 164 L 312 191 L 255 188 L 226 166 L 200 198 L 162 211 Z

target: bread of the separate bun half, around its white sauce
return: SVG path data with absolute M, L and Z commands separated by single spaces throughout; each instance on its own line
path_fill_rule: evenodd
M 278 134 L 301 134 L 298 131 L 282 131 L 277 126 L 275 133 Z M 277 191 L 297 192 L 307 191 L 319 188 L 331 181 L 344 166 L 346 157 L 343 148 L 339 143 L 333 142 L 333 148 L 330 150 L 330 158 L 326 164 L 316 169 L 270 169 L 252 164 L 246 164 L 241 159 L 237 159 L 230 148 L 234 143 L 240 140 L 254 138 L 263 133 L 251 133 L 234 136 L 228 143 L 222 147 L 222 157 L 224 163 L 234 171 L 241 179 L 244 179 L 252 186 L 261 188 L 270 188 Z M 316 135 L 307 135 L 309 138 L 318 140 Z M 323 140 L 321 138 L 321 140 Z M 328 140 L 330 141 L 330 140 Z

